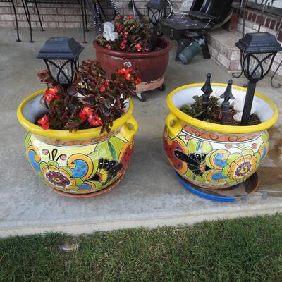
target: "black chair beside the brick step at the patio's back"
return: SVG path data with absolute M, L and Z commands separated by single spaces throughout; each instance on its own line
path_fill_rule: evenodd
M 161 32 L 178 41 L 176 61 L 185 47 L 192 40 L 201 39 L 204 59 L 209 59 L 209 48 L 206 35 L 209 30 L 220 27 L 232 15 L 233 0 L 194 0 L 190 11 L 180 11 L 182 18 L 172 18 L 161 21 Z

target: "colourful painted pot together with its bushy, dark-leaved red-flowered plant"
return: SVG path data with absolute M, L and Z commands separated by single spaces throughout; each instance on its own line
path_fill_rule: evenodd
M 53 37 L 48 43 L 44 47 L 48 54 L 56 43 L 54 58 L 59 44 L 64 44 L 64 50 L 80 49 L 69 37 L 63 37 L 63 43 Z M 49 71 L 39 71 L 38 76 L 47 89 L 27 97 L 17 112 L 27 129 L 27 160 L 56 192 L 73 197 L 99 195 L 120 182 L 133 153 L 137 122 L 129 97 L 139 78 L 133 68 L 123 68 L 108 80 L 94 60 L 83 61 L 70 75 L 77 57 L 44 56 Z

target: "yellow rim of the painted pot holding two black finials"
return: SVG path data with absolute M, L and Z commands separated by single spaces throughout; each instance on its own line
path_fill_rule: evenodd
M 238 134 L 238 133 L 255 133 L 255 132 L 266 130 L 270 128 L 272 125 L 274 125 L 278 119 L 278 109 L 276 108 L 275 104 L 271 102 L 269 98 L 266 98 L 264 95 L 259 94 L 258 92 L 255 92 L 255 96 L 263 99 L 267 104 L 269 104 L 274 111 L 274 115 L 268 121 L 265 121 L 264 123 L 260 123 L 257 125 L 231 126 L 231 125 L 221 125 L 221 124 L 216 124 L 216 123 L 209 123 L 207 121 L 200 121 L 197 118 L 192 118 L 192 116 L 188 116 L 187 114 L 184 114 L 183 111 L 180 111 L 180 109 L 174 106 L 172 102 L 172 97 L 174 94 L 186 88 L 197 87 L 197 86 L 202 86 L 202 85 L 204 85 L 204 83 L 194 83 L 194 84 L 183 85 L 183 86 L 176 88 L 175 90 L 173 90 L 171 93 L 168 94 L 168 97 L 166 99 L 166 104 L 168 106 L 168 109 L 180 121 L 184 121 L 185 123 L 188 123 L 197 128 L 202 128 L 204 130 L 216 131 L 219 133 Z M 224 83 L 212 83 L 212 85 L 223 86 L 223 87 L 227 86 L 227 84 L 224 84 Z M 246 91 L 245 88 L 237 86 L 237 85 L 232 85 L 232 87 L 238 90 Z

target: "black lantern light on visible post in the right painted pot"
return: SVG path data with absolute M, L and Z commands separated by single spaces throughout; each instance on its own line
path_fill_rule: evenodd
M 274 57 L 282 51 L 281 44 L 268 32 L 247 33 L 235 46 L 241 52 L 241 68 L 249 80 L 241 125 L 247 125 L 252 109 L 255 87 L 269 73 Z

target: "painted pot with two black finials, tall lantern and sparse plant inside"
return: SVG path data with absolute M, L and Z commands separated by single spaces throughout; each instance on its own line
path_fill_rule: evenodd
M 269 152 L 267 129 L 278 119 L 275 104 L 255 87 L 271 69 L 281 44 L 274 35 L 256 32 L 235 45 L 249 80 L 247 92 L 232 87 L 232 80 L 227 87 L 211 84 L 208 74 L 204 84 L 178 87 L 167 98 L 166 155 L 181 178 L 201 188 L 235 187 L 252 176 Z

